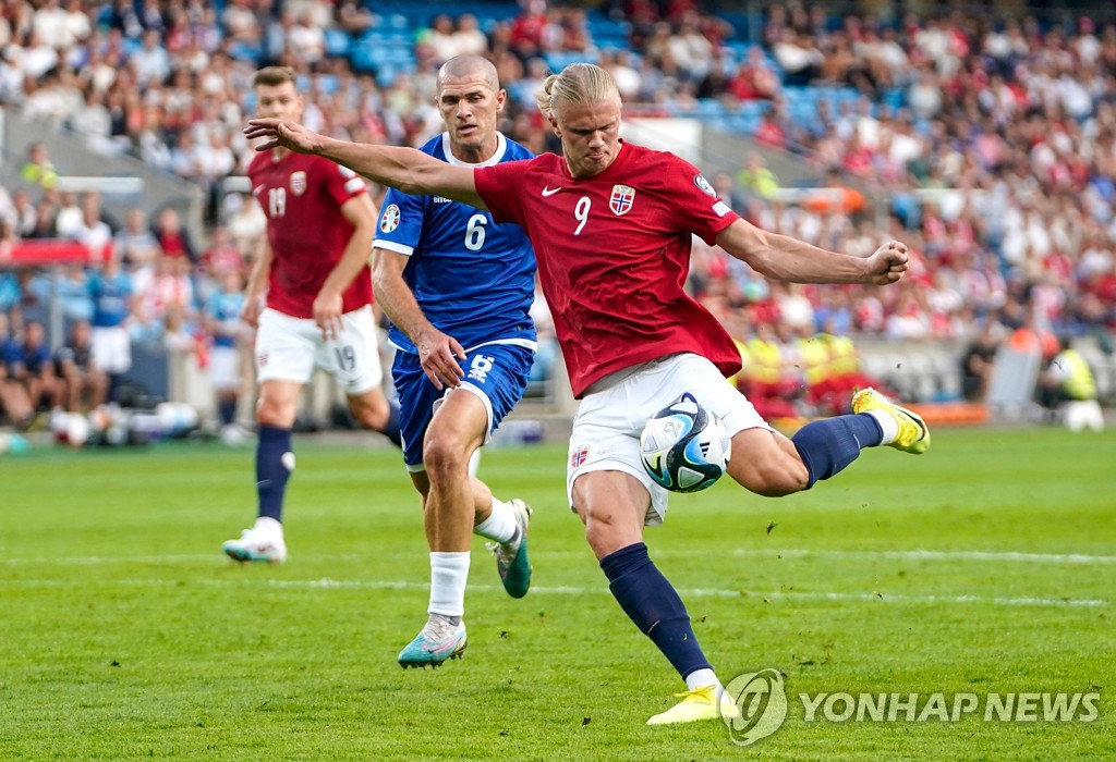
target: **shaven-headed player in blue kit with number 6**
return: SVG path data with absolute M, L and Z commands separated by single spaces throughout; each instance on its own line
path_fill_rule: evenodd
M 506 98 L 488 60 L 446 61 L 437 75 L 445 131 L 421 150 L 472 166 L 531 158 L 496 129 Z M 493 541 L 510 595 L 522 597 L 530 585 L 530 508 L 497 499 L 468 466 L 527 387 L 536 350 L 528 314 L 535 252 L 518 225 L 497 225 L 488 213 L 449 198 L 394 189 L 384 199 L 373 252 L 376 302 L 398 350 L 392 377 L 403 459 L 422 495 L 430 545 L 429 618 L 398 658 L 404 667 L 437 666 L 465 648 L 461 617 L 473 533 Z

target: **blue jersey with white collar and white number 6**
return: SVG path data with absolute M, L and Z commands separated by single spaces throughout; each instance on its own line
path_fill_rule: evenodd
M 532 158 L 533 154 L 497 133 L 496 154 L 482 164 L 459 162 L 443 134 L 421 150 L 466 167 Z M 535 299 L 535 250 L 519 225 L 492 222 L 488 212 L 441 196 L 412 196 L 388 190 L 376 229 L 375 246 L 406 254 L 403 280 L 434 328 L 466 350 L 484 344 L 536 348 L 528 314 Z M 395 325 L 392 343 L 415 353 Z

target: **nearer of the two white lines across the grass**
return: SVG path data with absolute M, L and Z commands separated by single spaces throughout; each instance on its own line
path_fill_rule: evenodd
M 109 579 L 96 580 L 94 585 L 100 587 L 179 587 L 189 589 L 194 585 L 205 587 L 251 587 L 261 583 L 267 587 L 295 588 L 295 589 L 355 589 L 355 590 L 426 590 L 430 585 L 419 582 L 392 582 L 386 579 Z M 67 579 L 0 579 L 0 587 L 75 587 L 76 583 Z M 502 587 L 496 585 L 472 585 L 471 590 L 484 593 L 498 593 Z M 576 587 L 570 585 L 558 585 L 554 587 L 533 586 L 531 592 L 536 595 L 604 595 L 608 590 L 602 587 Z M 1108 602 L 1100 598 L 1006 598 L 999 596 L 980 595 L 891 595 L 887 593 L 786 593 L 770 592 L 761 593 L 756 590 L 734 590 L 711 587 L 680 588 L 679 594 L 694 598 L 760 598 L 764 602 L 771 600 L 846 600 L 863 603 L 886 603 L 886 604 L 988 604 L 994 606 L 1071 606 L 1071 607 L 1097 607 L 1108 606 Z

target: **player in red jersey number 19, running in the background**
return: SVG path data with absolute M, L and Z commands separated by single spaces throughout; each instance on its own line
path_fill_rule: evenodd
M 260 69 L 252 86 L 261 117 L 301 118 L 302 98 L 291 69 Z M 282 500 L 295 468 L 291 427 L 299 394 L 315 368 L 344 387 L 362 427 L 383 432 L 396 444 L 400 427 L 381 388 L 368 271 L 376 209 L 364 180 L 330 160 L 281 146 L 256 156 L 248 176 L 268 218 L 267 246 L 252 270 L 241 313 L 259 329 L 259 516 L 223 550 L 241 561 L 279 563 L 287 558 Z

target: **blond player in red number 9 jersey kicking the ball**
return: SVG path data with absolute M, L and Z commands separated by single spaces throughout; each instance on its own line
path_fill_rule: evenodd
M 523 226 L 581 400 L 570 436 L 570 506 L 613 596 L 686 682 L 682 701 L 648 724 L 735 715 L 682 599 L 643 544 L 644 527 L 661 524 L 666 509 L 666 492 L 639 458 L 647 419 L 692 393 L 732 434 L 729 475 L 771 497 L 828 479 L 864 447 L 924 452 L 930 432 L 873 389 L 856 394 L 855 414 L 814 421 L 792 439 L 771 429 L 724 380 L 740 370 L 732 339 L 683 290 L 691 236 L 768 277 L 797 283 L 895 283 L 907 271 L 906 246 L 893 241 L 862 258 L 754 227 L 690 164 L 619 139 L 619 95 L 599 67 L 573 63 L 548 77 L 538 104 L 562 155 L 478 169 L 408 148 L 334 140 L 277 119 L 251 120 L 244 131 L 267 138 L 264 146 L 327 156 L 376 182 Z M 443 355 L 432 365 L 450 380 L 456 365 Z

